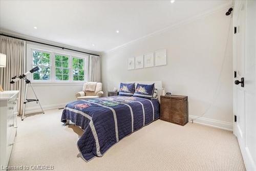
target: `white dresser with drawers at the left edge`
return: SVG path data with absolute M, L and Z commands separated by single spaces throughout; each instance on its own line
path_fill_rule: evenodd
M 8 166 L 17 133 L 17 101 L 19 91 L 0 92 L 0 166 Z

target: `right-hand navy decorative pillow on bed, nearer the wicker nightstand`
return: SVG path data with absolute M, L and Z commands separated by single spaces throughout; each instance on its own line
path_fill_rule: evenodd
M 155 83 L 149 84 L 149 85 L 148 84 L 137 84 L 133 96 L 152 99 L 154 90 L 155 90 Z

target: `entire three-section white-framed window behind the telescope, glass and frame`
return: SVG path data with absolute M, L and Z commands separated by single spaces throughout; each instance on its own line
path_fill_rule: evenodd
M 87 76 L 88 55 L 28 45 L 28 70 L 39 67 L 30 79 L 36 82 L 83 82 Z

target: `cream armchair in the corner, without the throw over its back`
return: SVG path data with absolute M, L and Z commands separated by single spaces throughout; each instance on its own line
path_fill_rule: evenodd
M 103 91 L 102 91 L 102 83 L 97 82 L 95 91 L 86 91 L 86 83 L 83 84 L 83 88 L 81 92 L 76 93 L 76 98 L 77 100 L 81 99 L 88 99 L 88 98 L 98 98 L 103 96 Z

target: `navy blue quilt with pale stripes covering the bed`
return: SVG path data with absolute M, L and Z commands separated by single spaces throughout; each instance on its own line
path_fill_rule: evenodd
M 157 99 L 111 96 L 68 103 L 61 122 L 71 120 L 84 130 L 77 146 L 82 158 L 89 161 L 159 116 Z

